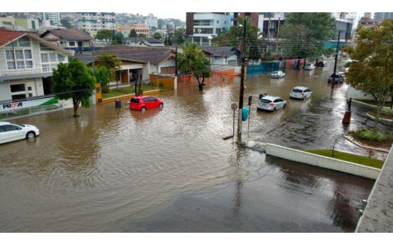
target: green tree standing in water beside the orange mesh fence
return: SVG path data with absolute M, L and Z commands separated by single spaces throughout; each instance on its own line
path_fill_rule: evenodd
M 196 43 L 185 42 L 183 53 L 178 54 L 178 65 L 181 72 L 191 72 L 198 81 L 198 88 L 203 90 L 205 78 L 211 76 L 210 61 L 204 57 L 202 48 Z

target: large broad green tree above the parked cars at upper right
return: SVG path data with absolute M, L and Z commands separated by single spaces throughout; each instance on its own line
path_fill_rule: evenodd
M 281 46 L 289 56 L 306 60 L 321 56 L 324 42 L 334 38 L 335 33 L 336 20 L 330 13 L 288 13 L 280 31 L 284 39 Z M 297 62 L 296 69 L 300 69 L 299 65 Z

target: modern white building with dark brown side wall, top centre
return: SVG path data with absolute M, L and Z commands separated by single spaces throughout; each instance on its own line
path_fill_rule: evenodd
M 186 13 L 186 33 L 200 45 L 210 45 L 209 36 L 226 33 L 230 26 L 230 13 Z

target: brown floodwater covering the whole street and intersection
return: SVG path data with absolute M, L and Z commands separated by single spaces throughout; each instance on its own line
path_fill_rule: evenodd
M 253 105 L 242 140 L 318 149 L 330 146 L 333 132 L 367 124 L 354 106 L 343 129 L 347 85 L 336 85 L 330 100 L 333 62 L 287 69 L 281 79 L 247 77 L 244 102 L 252 94 Z M 312 98 L 290 100 L 296 85 L 309 87 Z M 281 96 L 286 109 L 256 112 L 262 92 Z M 195 86 L 157 96 L 163 110 L 144 114 L 124 100 L 121 109 L 81 108 L 79 118 L 66 109 L 12 120 L 37 126 L 40 136 L 0 145 L 0 232 L 354 231 L 373 180 L 222 140 L 232 133 L 239 78 L 203 93 Z M 355 147 L 341 141 L 340 149 Z

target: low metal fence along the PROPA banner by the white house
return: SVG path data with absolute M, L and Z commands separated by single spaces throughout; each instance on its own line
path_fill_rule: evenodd
M 0 112 L 0 121 L 62 110 L 62 105 L 43 105 Z

